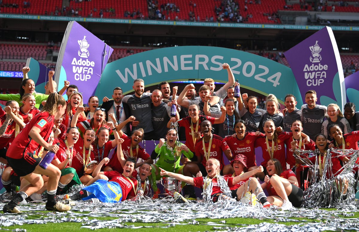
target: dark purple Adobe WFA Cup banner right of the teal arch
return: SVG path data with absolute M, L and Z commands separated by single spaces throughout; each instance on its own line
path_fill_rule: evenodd
M 344 74 L 339 50 L 330 27 L 314 33 L 284 53 L 305 102 L 308 90 L 317 92 L 317 104 L 344 106 Z

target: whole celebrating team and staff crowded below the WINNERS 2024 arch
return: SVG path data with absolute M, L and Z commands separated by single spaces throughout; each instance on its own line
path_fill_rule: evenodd
M 25 199 L 43 202 L 43 193 L 46 209 L 60 212 L 70 210 L 74 200 L 156 198 L 161 193 L 156 181 L 162 177 L 182 181 L 182 194 L 174 192 L 180 203 L 238 200 L 264 209 L 300 207 L 310 174 L 303 168 L 305 157 L 293 153 L 316 150 L 306 160 L 320 163 L 323 175 L 328 147 L 358 150 L 355 105 L 346 103 L 343 115 L 336 104 L 317 105 L 316 92 L 308 90 L 300 109 L 295 96 L 287 94 L 282 112 L 274 95 L 267 97 L 263 110 L 257 108 L 257 97 L 240 94 L 240 80 L 235 81 L 227 63 L 223 69 L 228 82 L 217 91 L 210 78 L 199 90 L 188 84 L 178 95 L 178 87 L 171 89 L 167 82 L 145 92 L 144 80 L 135 79 L 134 94 L 123 96 L 115 87 L 101 105 L 91 96 L 84 107 L 81 86 L 65 81 L 56 93 L 50 71 L 46 93 L 37 93 L 28 78 L 30 69 L 24 67 L 19 93 L 0 94 L 7 101 L 0 109 L 0 161 L 6 164 L 1 181 L 13 193 L 4 213 L 19 213 L 17 206 Z M 159 143 L 148 154 L 140 145 L 143 140 Z M 257 147 L 262 150 L 260 164 Z M 46 163 L 51 154 L 51 163 Z M 331 159 L 335 176 L 349 160 Z M 348 182 L 341 181 L 345 198 Z M 78 184 L 85 187 L 65 200 L 56 198 Z M 203 191 L 202 199 L 196 188 Z

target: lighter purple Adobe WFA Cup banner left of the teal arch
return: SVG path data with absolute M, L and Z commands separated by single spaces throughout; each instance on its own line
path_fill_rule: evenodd
M 84 102 L 94 95 L 113 49 L 75 21 L 67 26 L 62 40 L 55 81 L 59 89 L 65 80 L 79 87 Z M 59 68 L 61 67 L 61 68 Z

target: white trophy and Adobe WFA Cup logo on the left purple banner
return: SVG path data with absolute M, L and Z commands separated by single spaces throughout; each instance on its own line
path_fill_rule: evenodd
M 91 79 L 91 75 L 93 74 L 92 67 L 95 67 L 95 62 L 88 60 L 90 55 L 88 47 L 90 44 L 87 42 L 86 36 L 84 36 L 82 40 L 77 40 L 77 42 L 80 45 L 80 50 L 78 51 L 80 58 L 76 59 L 76 57 L 74 57 L 72 60 L 72 71 L 76 81 L 87 81 Z

